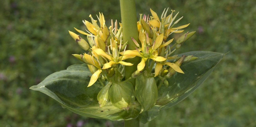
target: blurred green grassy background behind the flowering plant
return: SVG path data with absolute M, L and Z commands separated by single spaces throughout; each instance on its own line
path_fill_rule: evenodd
M 228 52 L 198 90 L 141 126 L 256 126 L 256 2 L 135 2 L 138 17 L 150 14 L 150 8 L 161 15 L 169 7 L 180 12 L 178 17 L 184 16 L 178 25 L 191 23 L 185 32 L 197 32 L 176 53 Z M 81 64 L 71 54 L 83 50 L 68 30 L 85 29 L 82 20 L 90 20 L 89 14 L 97 19 L 99 12 L 108 26 L 111 19 L 121 22 L 119 1 L 1 1 L 0 126 L 122 126 L 122 121 L 76 115 L 47 95 L 29 89 L 49 74 Z

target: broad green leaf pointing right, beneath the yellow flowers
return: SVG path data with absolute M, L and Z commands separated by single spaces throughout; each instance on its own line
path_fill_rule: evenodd
M 194 55 L 198 58 L 181 65 L 181 70 L 185 74 L 176 73 L 167 79 L 169 87 L 166 88 L 163 85 L 159 89 L 156 104 L 148 111 L 140 114 L 139 119 L 141 122 L 146 123 L 151 121 L 158 115 L 158 110 L 170 108 L 188 97 L 189 94 L 195 91 L 206 80 L 225 55 L 223 53 L 209 51 L 193 51 L 179 54 L 178 56 L 184 54 Z M 159 84 L 160 81 L 156 82 Z

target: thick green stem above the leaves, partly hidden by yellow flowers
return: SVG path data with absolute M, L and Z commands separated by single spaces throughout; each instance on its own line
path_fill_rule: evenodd
M 127 50 L 134 50 L 135 44 L 132 41 L 133 37 L 138 41 L 138 28 L 137 17 L 134 0 L 120 0 L 122 29 L 123 29 L 123 42 L 128 41 Z M 137 65 L 140 62 L 139 57 L 133 59 L 127 59 L 125 62 L 132 63 L 133 66 L 125 66 L 125 79 L 131 77 L 132 73 L 137 70 Z M 131 79 L 130 82 L 135 85 L 135 79 Z

